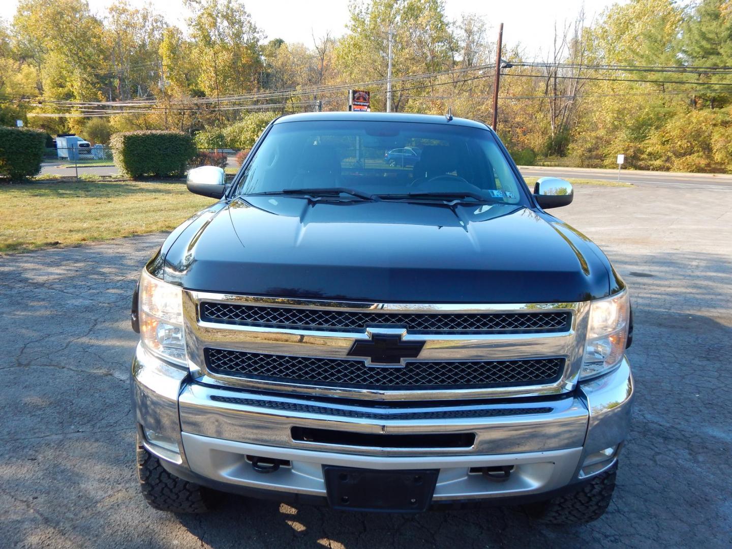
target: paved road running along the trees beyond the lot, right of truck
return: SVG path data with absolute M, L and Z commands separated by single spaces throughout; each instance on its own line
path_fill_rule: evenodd
M 618 181 L 617 170 L 594 168 L 554 168 L 549 166 L 519 166 L 524 176 L 600 179 Z M 654 184 L 704 190 L 732 190 L 732 174 L 676 173 L 665 171 L 622 170 L 620 181 L 632 184 Z

